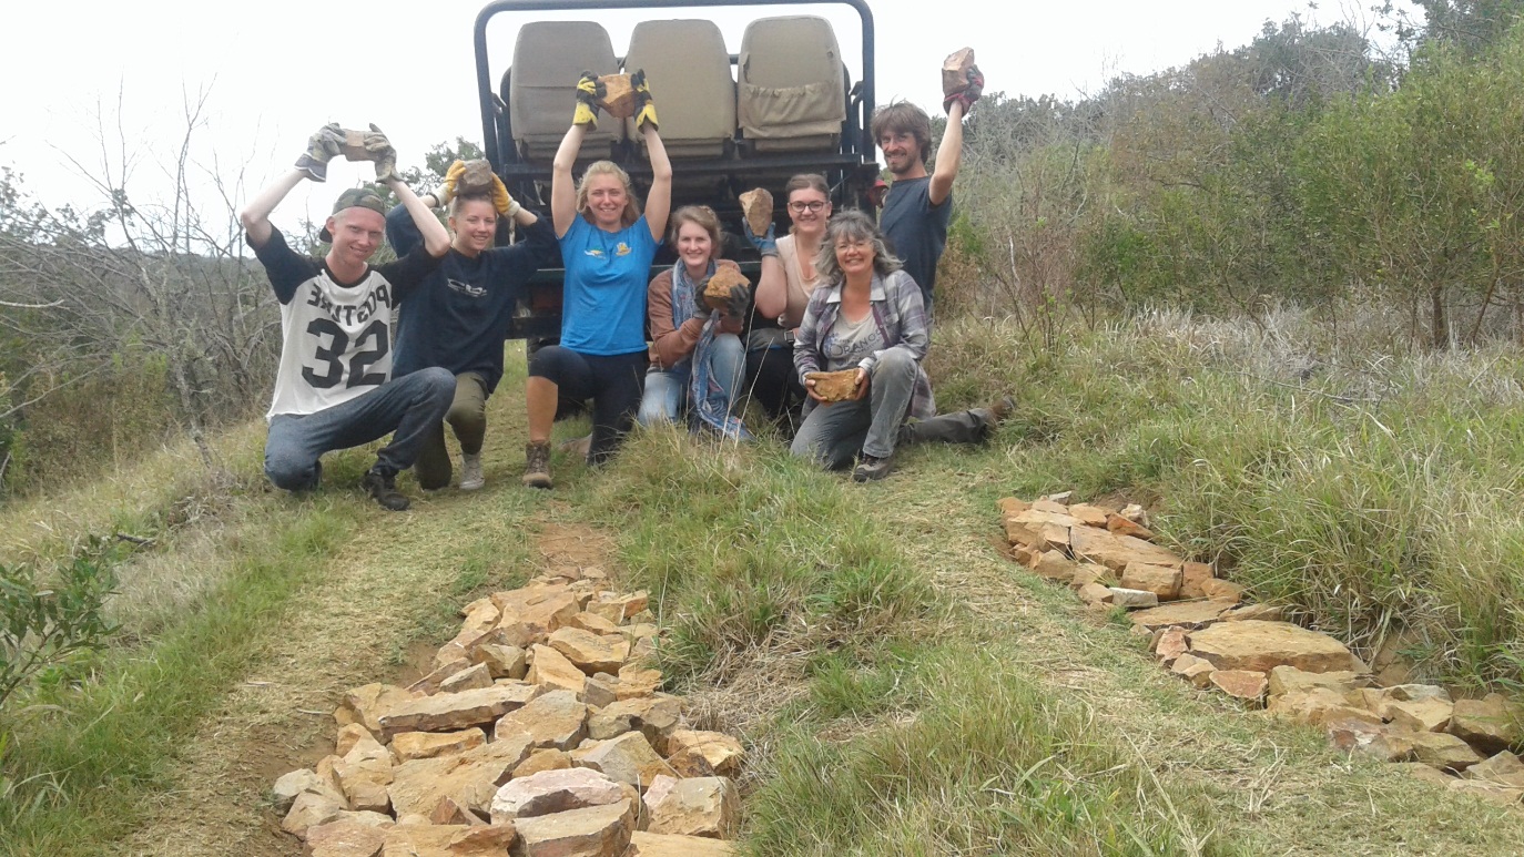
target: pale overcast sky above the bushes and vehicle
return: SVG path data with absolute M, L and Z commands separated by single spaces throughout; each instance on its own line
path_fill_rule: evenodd
M 904 97 L 940 110 L 942 59 L 963 46 L 974 47 L 986 91 L 1076 97 L 1120 73 L 1143 75 L 1218 46 L 1242 46 L 1266 20 L 1300 12 L 1334 23 L 1359 18 L 1366 5 L 1335 0 L 1309 11 L 1306 0 L 870 0 L 878 100 Z M 209 193 L 207 174 L 235 181 L 241 170 L 245 193 L 256 192 L 325 122 L 352 128 L 375 122 L 392 137 L 402 166 L 421 164 L 424 151 L 440 140 L 480 142 L 471 47 L 480 8 L 475 0 L 15 0 L 3 14 L 0 164 L 21 172 L 46 202 L 90 205 L 99 196 L 69 155 L 99 172 L 98 117 L 105 117 L 113 161 L 119 163 L 120 137 L 126 139 L 130 195 L 162 193 L 160 164 L 172 161 L 184 132 L 183 102 L 203 90 L 210 96 L 192 167 L 200 193 Z M 610 30 L 616 53 L 623 53 L 629 26 L 642 17 L 713 18 L 736 52 L 745 23 L 770 14 L 832 18 L 856 79 L 860 23 L 849 6 L 648 9 L 599 12 L 596 20 Z M 488 32 L 497 49 L 494 79 L 507 64 L 518 23 L 529 18 L 494 18 Z M 654 94 L 660 108 L 661 93 Z M 303 204 L 326 213 L 340 187 L 370 175 L 367 164 L 335 166 L 326 187 L 299 190 L 299 201 L 276 219 Z

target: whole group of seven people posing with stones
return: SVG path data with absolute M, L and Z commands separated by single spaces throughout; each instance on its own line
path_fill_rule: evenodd
M 549 218 L 524 209 L 495 175 L 486 190 L 468 187 L 460 161 L 437 190 L 415 195 L 375 125 L 364 148 L 376 183 L 399 204 L 387 210 L 373 189 L 344 190 L 319 234 L 329 245 L 323 257 L 294 251 L 270 213 L 302 180 L 326 180 L 346 143 L 341 128 L 319 129 L 296 167 L 248 202 L 242 224 L 280 301 L 280 368 L 265 444 L 271 483 L 312 489 L 325 452 L 390 434 L 363 486 L 383 507 L 405 510 L 398 472 L 416 467 L 425 490 L 451 483 L 448 425 L 460 443 L 460 489 L 482 487 L 486 399 L 503 376 L 503 339 L 524 285 L 558 263 L 565 269 L 561 338 L 529 356 L 524 385 L 526 486 L 552 487 L 553 423 L 588 402 L 591 435 L 568 446 L 585 449 L 590 464 L 607 461 L 636 420 L 686 419 L 695 429 L 748 438 L 736 413 L 742 393 L 785 423 L 802 402 L 792 454 L 853 467 L 856 481 L 885 476 L 898 444 L 986 435 L 1004 405 L 936 416 L 920 368 L 962 119 L 983 88 L 977 68 L 946 97 L 946 131 L 930 172 L 925 111 L 896 102 L 873 116 L 893 177 L 876 224 L 863 212 L 834 213 L 824 177 L 791 178 L 783 187 L 789 234 L 742 227 L 762 257 L 754 286 L 719 257 L 721 224 L 710 207 L 671 210 L 672 163 L 655 105 L 643 73 L 631 84 L 652 174 L 643 210 L 613 161 L 573 178 L 597 122 L 599 84 L 590 75 L 578 82 L 572 128 L 555 155 Z M 434 216 L 439 207 L 448 231 Z M 503 218 L 518 239 L 497 248 Z M 372 266 L 383 239 L 398 257 Z M 663 242 L 674 245 L 677 263 L 648 283 Z M 706 300 L 712 279 L 716 288 L 733 283 L 719 309 Z M 852 397 L 826 402 L 808 374 L 843 370 L 856 371 Z

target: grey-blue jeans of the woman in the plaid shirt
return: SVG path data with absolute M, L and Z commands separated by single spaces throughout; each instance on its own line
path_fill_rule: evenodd
M 860 452 L 888 458 L 914 391 L 916 359 L 890 349 L 867 374 L 867 396 L 831 405 L 814 402 L 789 452 L 811 457 L 831 470 L 852 466 Z

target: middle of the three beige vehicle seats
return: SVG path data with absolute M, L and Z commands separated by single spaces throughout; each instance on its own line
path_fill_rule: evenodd
M 640 21 L 625 56 L 625 72 L 639 68 L 646 70 L 668 155 L 722 157 L 736 135 L 736 82 L 719 27 L 703 20 Z M 632 119 L 625 135 L 645 154 Z

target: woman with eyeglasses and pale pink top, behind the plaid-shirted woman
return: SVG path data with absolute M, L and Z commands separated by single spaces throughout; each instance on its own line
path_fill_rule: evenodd
M 786 236 L 774 241 L 771 227 L 767 234 L 754 236 L 742 218 L 742 230 L 762 254 L 756 312 L 747 335 L 747 390 L 774 422 L 805 399 L 794 373 L 792 341 L 805 320 L 805 304 L 820 285 L 815 256 L 831 219 L 831 189 L 823 175 L 789 178 L 783 196 L 792 224 Z

